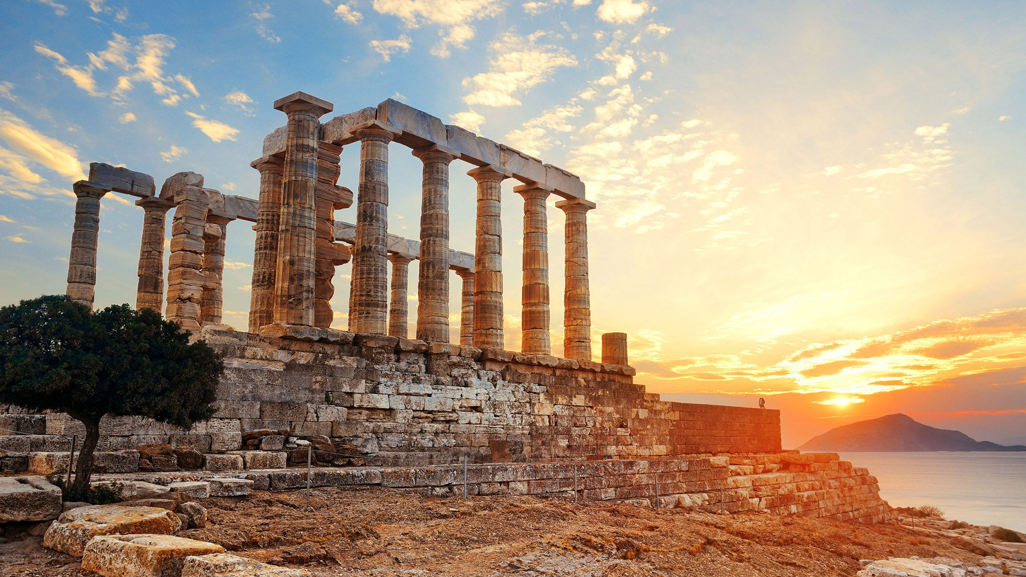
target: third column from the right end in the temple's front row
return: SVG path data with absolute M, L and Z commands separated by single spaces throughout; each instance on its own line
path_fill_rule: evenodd
M 501 349 L 505 348 L 501 193 L 506 175 L 494 166 L 481 166 L 467 174 L 477 181 L 473 345 L 478 348 Z

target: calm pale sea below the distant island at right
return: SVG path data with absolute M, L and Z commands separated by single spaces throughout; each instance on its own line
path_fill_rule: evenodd
M 936 505 L 945 518 L 1026 532 L 1026 452 L 840 453 L 895 507 Z

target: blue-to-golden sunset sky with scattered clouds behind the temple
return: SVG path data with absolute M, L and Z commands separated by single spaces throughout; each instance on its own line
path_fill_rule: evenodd
M 581 177 L 597 203 L 594 354 L 601 333 L 627 333 L 649 391 L 762 397 L 785 448 L 892 413 L 1026 444 L 1026 3 L 9 0 L 0 23 L 0 303 L 65 290 L 71 183 L 89 162 L 255 197 L 249 162 L 285 122 L 276 99 L 326 100 L 326 121 L 392 98 Z M 354 191 L 358 159 L 342 153 Z M 450 166 L 465 252 L 470 168 Z M 392 144 L 393 234 L 418 236 L 420 178 Z M 97 306 L 134 303 L 131 200 L 102 202 Z M 254 236 L 232 223 L 227 238 L 225 321 L 244 329 Z M 349 265 L 334 284 L 345 329 Z

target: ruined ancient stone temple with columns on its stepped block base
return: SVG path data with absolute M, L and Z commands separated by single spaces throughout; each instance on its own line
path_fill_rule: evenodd
M 256 198 L 204 188 L 194 172 L 169 177 L 158 193 L 152 177 L 98 163 L 90 165 L 88 181 L 74 184 L 68 295 L 92 304 L 101 197 L 137 197 L 144 225 L 136 306 L 159 310 L 165 303 L 166 318 L 205 338 L 225 355 L 227 368 L 210 421 L 182 431 L 114 419 L 102 427 L 104 449 L 189 445 L 210 463 L 237 456 L 239 466 L 250 469 L 284 466 L 294 439 L 320 444 L 317 460 L 336 465 L 364 459 L 410 465 L 671 459 L 677 464 L 650 470 L 665 472 L 661 483 L 696 495 L 699 503 L 719 490 L 723 506 L 722 490 L 731 490 L 729 507 L 738 510 L 783 506 L 785 501 L 766 500 L 768 490 L 760 484 L 770 484 L 780 486 L 773 495 L 791 495 L 791 512 L 815 508 L 816 514 L 860 520 L 885 514 L 865 469 L 838 464 L 835 455 L 782 453 L 778 411 L 664 401 L 634 382 L 626 334 L 602 335 L 601 350 L 592 350 L 587 217 L 596 204 L 578 177 L 394 100 L 328 117 L 330 103 L 295 92 L 274 108 L 286 122 L 267 136 L 251 163 L 260 171 L 260 190 L 251 192 Z M 340 167 L 349 147 L 358 147 L 357 175 Z M 423 163 L 418 238 L 388 230 L 389 154 L 403 148 Z M 456 160 L 473 166 L 466 175 L 477 186 L 474 223 L 449 218 L 449 184 L 464 178 L 450 175 Z M 355 187 L 355 195 L 340 179 Z M 509 206 L 503 198 L 507 179 L 518 183 L 513 191 L 522 204 L 517 199 Z M 550 202 L 565 216 L 561 357 L 552 355 L 550 343 Z M 501 217 L 521 209 L 522 255 L 511 264 L 502 252 Z M 244 332 L 222 324 L 226 239 L 240 220 L 254 223 L 256 232 Z M 450 227 L 471 226 L 473 252 L 449 245 Z M 409 278 L 413 261 L 416 284 Z M 517 261 L 522 350 L 510 351 L 503 271 Z M 450 271 L 460 286 L 449 285 Z M 340 274 L 347 273 L 349 325 L 343 331 L 330 328 L 331 298 Z M 416 314 L 407 306 L 411 290 Z M 459 342 L 449 342 L 456 295 Z M 410 330 L 415 339 L 407 338 Z M 45 417 L 47 433 L 74 426 Z M 254 431 L 286 440 L 254 445 Z M 709 460 L 717 454 L 729 459 Z M 595 495 L 643 494 L 648 490 L 632 484 L 647 467 L 619 466 L 616 475 L 626 475 L 623 491 L 602 480 Z M 508 474 L 549 474 L 525 471 Z M 778 471 L 793 472 L 764 476 Z M 511 490 L 521 480 L 525 488 L 561 487 L 492 480 L 481 482 L 480 491 Z M 796 492 L 804 493 L 799 499 Z M 832 508 L 824 509 L 828 500 Z

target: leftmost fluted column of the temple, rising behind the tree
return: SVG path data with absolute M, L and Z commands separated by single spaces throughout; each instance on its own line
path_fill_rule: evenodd
M 75 228 L 68 256 L 68 296 L 76 303 L 92 306 L 96 286 L 96 244 L 100 241 L 100 199 L 109 189 L 89 181 L 72 185 L 75 196 Z

